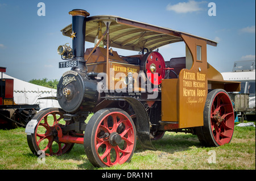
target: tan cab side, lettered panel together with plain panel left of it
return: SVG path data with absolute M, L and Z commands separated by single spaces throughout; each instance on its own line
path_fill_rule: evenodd
M 207 98 L 207 42 L 181 35 L 190 54 L 178 79 L 162 82 L 162 121 L 178 121 L 179 128 L 203 126 L 203 111 Z M 200 46 L 200 57 L 197 57 Z M 190 60 L 189 60 L 190 59 Z M 187 64 L 189 62 L 189 64 Z

